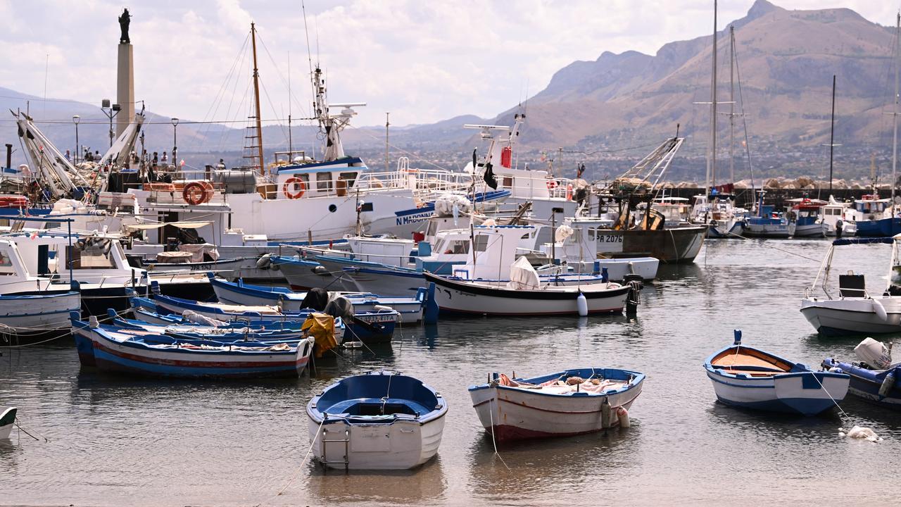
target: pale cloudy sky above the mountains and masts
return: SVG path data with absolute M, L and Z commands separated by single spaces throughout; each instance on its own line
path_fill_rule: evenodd
M 895 23 L 901 6 L 773 3 L 848 7 L 883 25 Z M 719 4 L 722 29 L 753 0 Z M 366 102 L 356 108 L 356 125 L 384 124 L 390 112 L 396 126 L 494 117 L 574 60 L 596 60 L 603 51 L 654 54 L 713 28 L 711 0 L 306 0 L 306 21 L 299 0 L 0 0 L 0 86 L 98 106 L 105 97 L 115 101 L 116 18 L 126 6 L 137 100 L 160 115 L 217 121 L 249 114 L 251 21 L 259 32 L 265 120 L 310 115 L 308 34 L 329 100 Z

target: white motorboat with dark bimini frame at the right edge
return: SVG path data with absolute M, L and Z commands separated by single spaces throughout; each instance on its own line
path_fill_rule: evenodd
M 833 241 L 823 264 L 810 287 L 804 291 L 801 313 L 816 331 L 827 336 L 883 334 L 901 332 L 901 258 L 895 237 L 848 237 Z M 872 244 L 872 245 L 870 245 Z M 891 264 L 885 290 L 870 293 L 864 275 L 847 272 L 839 275 L 838 293 L 828 287 L 836 246 L 859 245 L 856 248 L 870 251 L 875 244 L 891 244 Z M 870 245 L 870 246 L 860 246 Z M 815 292 L 822 290 L 824 296 Z

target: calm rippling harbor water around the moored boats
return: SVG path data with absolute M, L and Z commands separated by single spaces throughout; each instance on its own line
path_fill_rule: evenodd
M 844 420 L 735 410 L 715 401 L 701 367 L 736 327 L 747 345 L 805 364 L 851 358 L 860 337 L 820 338 L 798 311 L 828 246 L 711 241 L 696 264 L 661 267 L 638 318 L 444 320 L 295 381 L 137 380 L 80 371 L 70 343 L 5 351 L 0 405 L 18 406 L 23 426 L 50 441 L 14 430 L 11 444 L 0 443 L 0 505 L 896 503 L 896 413 L 853 398 L 842 403 Z M 834 272 L 855 269 L 879 287 L 888 252 L 845 247 Z M 496 456 L 467 386 L 492 371 L 583 365 L 648 374 L 632 428 L 509 445 L 498 449 L 503 461 Z M 348 475 L 304 462 L 305 403 L 337 377 L 383 367 L 422 378 L 450 403 L 437 458 L 412 472 Z M 885 440 L 840 438 L 853 423 Z

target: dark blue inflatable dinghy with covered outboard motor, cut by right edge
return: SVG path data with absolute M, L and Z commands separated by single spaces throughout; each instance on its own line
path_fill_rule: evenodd
M 878 341 L 867 338 L 854 348 L 860 361 L 845 363 L 832 357 L 823 362 L 830 372 L 851 375 L 848 392 L 867 401 L 901 410 L 901 363 L 892 364 L 891 352 Z

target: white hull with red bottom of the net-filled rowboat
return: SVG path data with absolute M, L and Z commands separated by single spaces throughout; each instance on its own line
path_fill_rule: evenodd
M 628 410 L 642 392 L 642 384 L 618 393 L 587 396 L 551 396 L 523 389 L 487 387 L 469 392 L 478 420 L 487 431 L 510 434 L 510 438 L 564 437 L 605 429 L 601 403 L 610 403 L 610 426 L 617 426 L 615 409 Z M 502 438 L 505 439 L 505 438 Z

